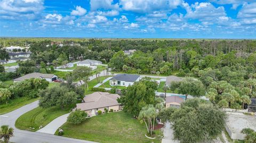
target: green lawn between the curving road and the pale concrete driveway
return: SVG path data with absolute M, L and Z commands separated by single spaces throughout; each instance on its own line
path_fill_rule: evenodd
M 21 115 L 15 122 L 15 127 L 21 130 L 37 131 L 40 125 L 47 125 L 57 117 L 69 113 L 70 109 L 75 105 L 70 105 L 63 110 L 59 106 L 51 108 L 37 107 L 23 115 Z M 45 118 L 44 118 L 44 115 Z M 31 128 L 35 129 L 31 129 Z

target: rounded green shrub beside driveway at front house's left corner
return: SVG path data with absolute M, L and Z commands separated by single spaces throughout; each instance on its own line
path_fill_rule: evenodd
M 76 110 L 71 112 L 68 116 L 68 122 L 72 124 L 79 124 L 86 120 L 87 113 L 84 111 Z

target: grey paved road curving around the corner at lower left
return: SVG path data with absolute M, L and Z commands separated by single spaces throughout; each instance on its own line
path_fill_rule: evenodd
M 19 116 L 22 114 L 33 110 L 34 108 L 38 107 L 38 100 L 30 103 L 28 105 L 22 106 L 17 110 L 12 112 L 6 113 L 4 115 L 0 115 L 0 125 L 9 125 L 9 127 L 14 128 L 14 137 L 11 138 L 11 142 L 19 142 L 19 143 L 41 143 L 41 142 L 49 142 L 49 143 L 77 143 L 77 142 L 85 142 L 85 143 L 92 143 L 92 141 L 86 140 L 79 140 L 73 138 L 66 138 L 61 136 L 54 136 L 52 134 L 41 133 L 41 132 L 30 132 L 30 131 L 23 131 L 15 128 L 15 121 L 18 119 Z

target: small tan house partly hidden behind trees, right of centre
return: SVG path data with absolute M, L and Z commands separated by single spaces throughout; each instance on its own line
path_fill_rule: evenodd
M 184 98 L 179 96 L 167 96 L 165 99 L 165 107 L 180 108 L 180 105 L 183 101 Z

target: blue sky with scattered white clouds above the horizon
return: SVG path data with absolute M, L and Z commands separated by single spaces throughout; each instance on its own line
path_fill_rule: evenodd
M 256 38 L 256 0 L 0 0 L 0 36 Z

